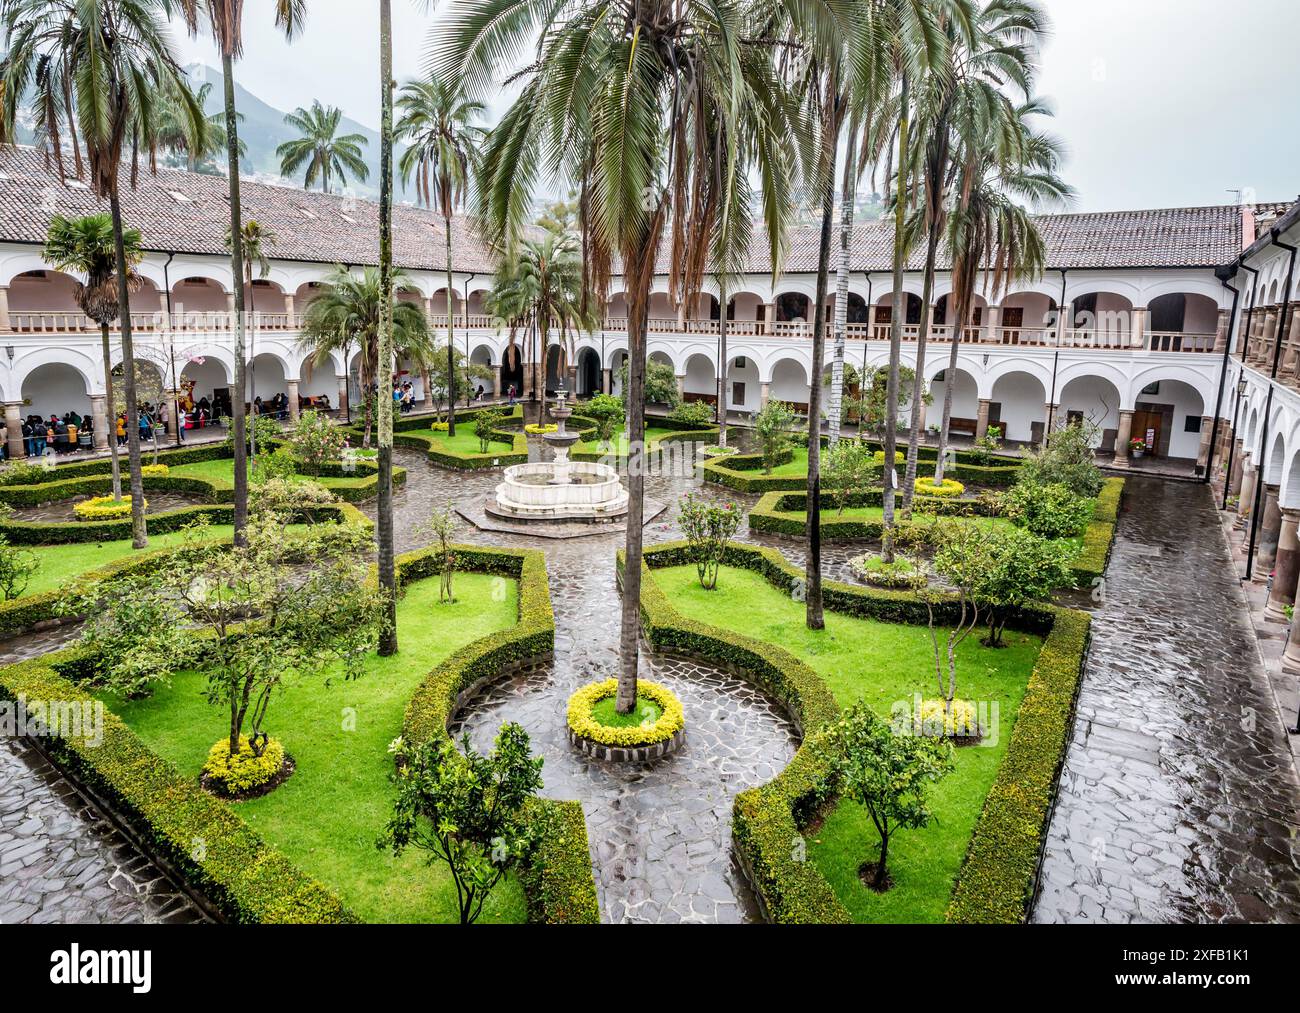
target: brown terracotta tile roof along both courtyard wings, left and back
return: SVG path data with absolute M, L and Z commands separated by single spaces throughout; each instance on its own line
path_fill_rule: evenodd
M 242 182 L 242 196 L 246 217 L 280 237 L 277 259 L 373 264 L 378 257 L 378 205 L 373 202 L 248 179 Z M 60 183 L 39 151 L 0 150 L 0 242 L 42 242 L 52 213 L 84 215 L 105 207 L 88 190 Z M 142 172 L 138 190 L 124 189 L 122 211 L 144 233 L 148 248 L 225 254 L 229 212 L 224 177 L 177 169 L 161 169 L 157 176 Z M 1048 244 L 1048 268 L 1213 268 L 1231 263 L 1242 251 L 1242 215 L 1234 205 L 1049 215 L 1039 221 Z M 785 270 L 815 270 L 818 239 L 818 228 L 793 230 Z M 888 270 L 892 242 L 890 221 L 858 225 L 853 269 Z M 398 205 L 394 247 L 400 267 L 443 269 L 442 218 Z M 919 269 L 922 256 L 918 251 L 909 269 Z M 452 260 L 459 272 L 493 269 L 491 256 L 465 218 L 452 221 Z M 750 270 L 771 270 L 762 234 L 754 239 Z

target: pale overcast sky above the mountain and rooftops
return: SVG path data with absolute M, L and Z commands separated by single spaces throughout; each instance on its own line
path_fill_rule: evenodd
M 442 0 L 445 4 L 446 0 Z M 320 99 L 378 126 L 373 0 L 312 0 L 291 47 L 269 0 L 246 5 L 240 82 L 292 109 Z M 430 4 L 430 8 L 433 5 Z M 1221 204 L 1300 194 L 1295 130 L 1296 0 L 1046 0 L 1054 34 L 1039 91 L 1053 100 L 1076 211 Z M 437 9 L 394 0 L 398 81 L 424 66 Z M 263 14 L 259 17 L 259 14 Z M 186 62 L 220 66 L 207 42 L 179 39 Z M 500 100 L 498 100 L 498 107 Z

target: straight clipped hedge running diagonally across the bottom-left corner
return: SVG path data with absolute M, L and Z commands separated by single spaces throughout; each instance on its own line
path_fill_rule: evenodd
M 64 650 L 0 668 L 0 698 L 94 702 L 58 674 L 79 651 Z M 104 713 L 103 741 L 48 735 L 43 745 L 92 792 L 126 815 L 148 843 L 233 922 L 355 922 L 325 886 L 261 840 L 228 802 L 153 753 L 116 714 Z

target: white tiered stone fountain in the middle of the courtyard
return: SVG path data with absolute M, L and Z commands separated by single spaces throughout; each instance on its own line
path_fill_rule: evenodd
M 542 521 L 618 520 L 627 515 L 628 490 L 618 471 L 598 462 L 569 460 L 569 450 L 581 437 L 566 428 L 573 415 L 566 398 L 562 388 L 551 406 L 555 432 L 542 437 L 555 459 L 506 468 L 488 514 Z

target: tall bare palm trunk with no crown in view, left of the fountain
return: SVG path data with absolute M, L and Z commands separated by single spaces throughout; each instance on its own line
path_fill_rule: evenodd
M 393 0 L 380 0 L 380 376 L 389 377 L 378 399 L 380 586 L 387 592 L 387 616 L 380 635 L 380 655 L 398 650 L 396 570 L 393 559 Z M 450 257 L 451 218 L 447 218 Z M 450 267 L 451 261 L 447 260 Z

